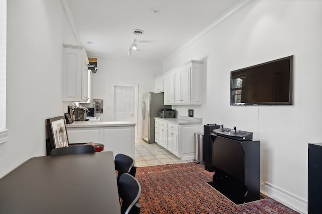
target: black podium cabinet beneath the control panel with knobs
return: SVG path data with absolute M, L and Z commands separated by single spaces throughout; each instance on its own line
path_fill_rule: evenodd
M 213 187 L 236 204 L 260 199 L 260 141 L 237 141 L 215 134 Z

